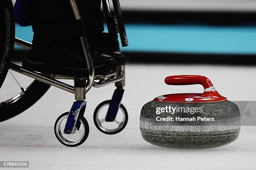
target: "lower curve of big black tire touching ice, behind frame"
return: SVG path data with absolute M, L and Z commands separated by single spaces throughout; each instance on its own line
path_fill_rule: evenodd
M 34 80 L 25 92 L 21 92 L 16 97 L 0 103 L 0 122 L 8 120 L 31 107 L 37 102 L 51 87 L 38 80 Z

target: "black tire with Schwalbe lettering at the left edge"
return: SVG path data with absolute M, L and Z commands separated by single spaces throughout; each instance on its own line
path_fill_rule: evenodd
M 15 40 L 15 20 L 12 0 L 1 0 L 1 23 L 0 24 L 0 88 L 10 67 L 13 56 Z M 3 56 L 3 57 L 2 57 Z

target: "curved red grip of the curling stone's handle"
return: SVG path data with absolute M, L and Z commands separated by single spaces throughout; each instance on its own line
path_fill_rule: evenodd
M 164 82 L 167 85 L 202 85 L 205 91 L 215 91 L 212 82 L 202 75 L 172 75 L 166 77 Z

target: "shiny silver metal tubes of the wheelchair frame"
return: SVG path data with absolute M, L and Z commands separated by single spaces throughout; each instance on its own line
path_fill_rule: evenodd
M 79 13 L 76 1 L 75 0 L 69 0 L 69 1 L 72 6 L 72 10 L 73 10 L 76 20 L 80 20 L 81 15 Z M 95 70 L 93 67 L 92 57 L 90 55 L 90 49 L 89 49 L 89 45 L 87 42 L 87 36 L 85 35 L 85 36 L 80 37 L 80 40 L 82 43 L 84 57 L 86 60 L 88 73 L 89 73 L 89 77 L 87 79 L 86 87 L 85 87 L 86 92 L 88 92 L 91 89 L 91 87 L 98 88 L 98 87 L 109 85 L 109 84 L 115 83 L 115 82 L 124 82 L 124 70 L 123 70 L 124 66 L 120 66 L 120 68 L 118 70 L 108 72 L 104 75 L 96 75 L 95 76 Z M 21 40 L 17 37 L 15 37 L 15 44 L 19 45 L 21 47 L 24 47 L 28 50 L 30 50 L 32 48 L 32 43 Z M 32 70 L 26 70 L 23 67 L 20 67 L 19 65 L 16 65 L 14 63 L 10 64 L 10 70 L 13 70 L 13 71 L 18 72 L 23 75 L 26 75 L 28 77 L 32 77 L 36 80 L 39 80 L 41 82 L 44 82 L 46 84 L 52 85 L 54 87 L 60 88 L 62 90 L 65 90 L 67 92 L 71 92 L 74 94 L 74 86 L 54 79 L 54 78 L 74 79 L 74 77 L 62 76 L 62 75 L 56 75 L 56 76 L 55 75 L 44 75 L 42 73 L 35 72 Z M 99 82 L 95 82 L 95 80 L 99 80 Z

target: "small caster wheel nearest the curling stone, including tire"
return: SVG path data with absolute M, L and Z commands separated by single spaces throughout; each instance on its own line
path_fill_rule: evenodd
M 111 100 L 106 100 L 102 103 L 100 103 L 93 114 L 93 120 L 94 120 L 94 124 L 97 127 L 98 130 L 100 130 L 100 132 L 108 134 L 108 135 L 113 135 L 116 133 L 121 132 L 127 122 L 128 122 L 128 113 L 127 110 L 125 109 L 125 107 L 120 104 L 117 116 L 115 118 L 115 120 L 113 120 L 112 122 L 106 122 L 105 121 L 105 116 L 108 110 L 108 107 L 110 105 Z M 104 108 L 105 107 L 105 108 Z M 106 108 L 107 107 L 107 108 Z M 104 109 L 103 109 L 104 108 Z M 103 114 L 100 114 L 100 110 L 104 110 Z M 121 111 L 122 113 L 120 113 L 119 111 Z

